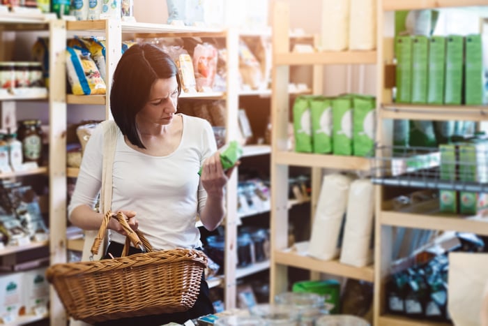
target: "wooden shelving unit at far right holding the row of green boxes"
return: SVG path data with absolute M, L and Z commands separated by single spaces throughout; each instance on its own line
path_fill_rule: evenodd
M 391 144 L 391 120 L 426 120 L 426 121 L 485 121 L 488 107 L 486 105 L 428 105 L 428 104 L 400 104 L 392 103 L 392 88 L 395 87 L 394 43 L 392 26 L 390 26 L 392 12 L 397 10 L 427 10 L 438 8 L 455 8 L 467 6 L 487 6 L 483 0 L 379 0 L 377 8 L 378 20 L 378 62 L 376 66 L 377 112 L 379 146 Z M 388 26 L 387 26 L 388 24 Z M 388 137 L 389 135 L 389 137 Z M 379 155 L 381 158 L 381 154 Z M 427 180 L 427 183 L 429 180 Z M 388 314 L 386 309 L 386 280 L 392 266 L 391 246 L 394 239 L 393 228 L 411 228 L 439 231 L 472 232 L 477 235 L 487 235 L 488 219 L 482 217 L 466 217 L 441 214 L 437 209 L 425 210 L 425 213 L 396 212 L 388 210 L 383 202 L 383 185 L 376 186 L 375 209 L 375 244 L 374 244 L 374 325 L 452 325 L 451 323 L 436 323 L 432 320 L 418 320 Z

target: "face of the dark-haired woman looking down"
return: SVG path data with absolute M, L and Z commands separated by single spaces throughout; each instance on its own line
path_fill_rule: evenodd
M 155 80 L 146 105 L 137 112 L 137 120 L 142 124 L 171 124 L 177 105 L 176 76 Z

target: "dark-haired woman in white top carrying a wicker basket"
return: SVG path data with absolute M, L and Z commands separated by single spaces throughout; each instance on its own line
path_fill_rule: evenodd
M 199 249 L 198 215 L 215 230 L 224 217 L 224 171 L 213 131 L 204 119 L 178 114 L 181 84 L 174 61 L 158 47 L 132 45 L 114 73 L 111 111 L 119 127 L 113 165 L 112 212 L 122 212 L 133 230 L 154 249 Z M 103 212 L 93 210 L 102 180 L 103 132 L 97 128 L 84 150 L 73 198 L 71 223 L 98 230 Z M 198 175 L 202 168 L 201 176 Z M 124 232 L 114 218 L 108 225 L 107 255 L 120 257 Z M 137 249 L 131 248 L 130 253 Z M 184 313 L 125 318 L 103 325 L 162 325 L 213 313 L 208 286 Z

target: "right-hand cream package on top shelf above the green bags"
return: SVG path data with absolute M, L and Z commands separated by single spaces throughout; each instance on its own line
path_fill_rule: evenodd
M 376 1 L 349 1 L 349 50 L 372 50 L 376 47 Z

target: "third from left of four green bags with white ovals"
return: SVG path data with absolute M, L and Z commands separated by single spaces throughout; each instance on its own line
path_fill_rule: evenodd
M 353 154 L 353 99 L 352 96 L 340 96 L 332 100 L 333 136 L 332 147 L 335 155 Z

